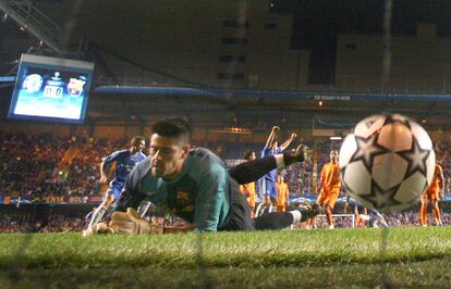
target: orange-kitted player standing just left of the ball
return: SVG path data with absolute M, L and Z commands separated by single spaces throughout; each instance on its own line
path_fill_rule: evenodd
M 327 224 L 330 229 L 333 229 L 332 221 L 332 209 L 336 205 L 337 199 L 340 194 L 341 181 L 340 181 L 340 167 L 338 164 L 338 151 L 330 151 L 330 163 L 327 163 L 322 166 L 321 176 L 319 179 L 319 186 L 317 192 L 319 192 L 317 204 L 322 206 Z M 307 227 L 312 227 L 315 223 L 315 219 L 312 218 L 308 221 Z

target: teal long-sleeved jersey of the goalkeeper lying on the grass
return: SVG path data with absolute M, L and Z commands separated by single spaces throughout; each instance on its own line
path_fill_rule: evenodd
M 207 149 L 192 150 L 181 176 L 171 181 L 157 178 L 146 158 L 130 174 L 114 211 L 137 208 L 149 199 L 196 226 L 198 230 L 218 230 L 230 216 L 232 187 L 223 162 Z

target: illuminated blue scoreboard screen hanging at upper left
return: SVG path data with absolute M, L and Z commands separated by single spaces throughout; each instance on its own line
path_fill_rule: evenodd
M 8 116 L 83 123 L 94 63 L 22 54 Z

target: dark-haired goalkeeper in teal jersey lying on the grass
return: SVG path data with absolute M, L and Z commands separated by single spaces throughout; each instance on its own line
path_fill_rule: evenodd
M 223 162 L 209 150 L 192 149 L 190 135 L 190 126 L 183 120 L 157 122 L 150 137 L 149 156 L 129 175 L 107 221 L 84 234 L 162 233 L 162 227 L 141 218 L 134 210 L 144 199 L 169 209 L 193 224 L 196 231 L 281 229 L 319 213 L 319 208 L 313 204 L 252 219 L 246 199 L 240 192 L 240 184 L 255 181 L 271 169 L 304 161 L 302 146 L 292 153 L 242 163 L 228 172 Z

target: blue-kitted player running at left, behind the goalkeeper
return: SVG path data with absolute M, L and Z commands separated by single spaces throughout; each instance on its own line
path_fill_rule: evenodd
M 132 172 L 136 164 L 146 159 L 146 155 L 143 153 L 145 147 L 145 138 L 135 136 L 132 139 L 132 147 L 130 149 L 114 151 L 107 158 L 103 158 L 100 163 L 100 183 L 106 184 L 108 181 L 106 167 L 113 162 L 115 162 L 114 178 L 108 186 L 103 201 L 93 213 L 88 227 L 99 223 L 103 217 L 105 212 L 111 206 L 114 200 L 119 198 L 130 172 Z

